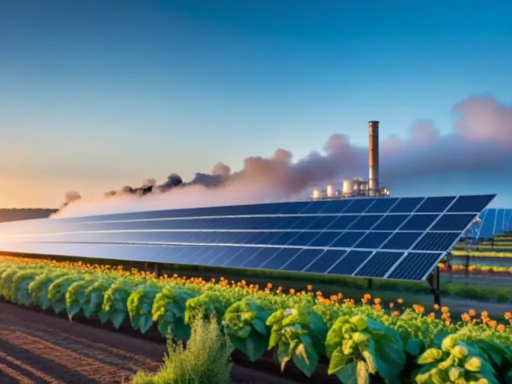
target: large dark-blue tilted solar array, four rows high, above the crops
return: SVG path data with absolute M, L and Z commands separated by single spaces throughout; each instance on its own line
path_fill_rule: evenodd
M 0 250 L 424 280 L 495 195 L 359 198 L 0 225 Z

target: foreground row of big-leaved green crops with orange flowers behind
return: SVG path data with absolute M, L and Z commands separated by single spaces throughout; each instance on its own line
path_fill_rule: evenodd
M 285 294 L 280 287 L 156 278 L 108 266 L 33 263 L 0 259 L 0 294 L 19 305 L 39 306 L 70 317 L 123 322 L 142 333 L 185 340 L 190 324 L 215 316 L 234 348 L 252 361 L 273 350 L 281 367 L 293 362 L 310 376 L 322 358 L 343 383 L 472 382 L 512 380 L 512 314 L 509 325 L 486 312 L 453 322 L 449 308 L 398 308 L 366 295 L 361 305 L 341 294 Z M 383 308 L 387 307 L 387 308 Z M 407 361 L 407 365 L 406 365 Z

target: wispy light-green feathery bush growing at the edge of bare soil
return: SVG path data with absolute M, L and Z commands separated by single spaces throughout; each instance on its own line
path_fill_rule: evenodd
M 167 335 L 167 354 L 156 373 L 138 372 L 131 384 L 227 384 L 230 382 L 232 347 L 215 317 L 202 316 L 191 326 L 184 346 Z

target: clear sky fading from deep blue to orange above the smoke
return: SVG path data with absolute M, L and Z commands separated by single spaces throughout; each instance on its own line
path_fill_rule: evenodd
M 0 206 L 512 102 L 509 1 L 0 2 Z

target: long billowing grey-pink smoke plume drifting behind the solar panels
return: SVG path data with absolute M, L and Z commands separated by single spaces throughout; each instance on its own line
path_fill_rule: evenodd
M 478 180 L 510 173 L 512 107 L 490 97 L 469 97 L 452 112 L 450 134 L 441 135 L 432 121 L 420 120 L 406 139 L 392 136 L 380 141 L 380 180 L 392 192 L 425 180 Z M 385 124 L 383 117 L 381 126 Z M 197 173 L 190 182 L 171 174 L 163 184 L 151 179 L 141 187 L 123 187 L 90 201 L 79 200 L 74 193 L 78 198 L 67 196 L 65 209 L 57 216 L 282 201 L 328 181 L 340 184 L 342 178 L 368 174 L 368 148 L 353 145 L 348 136 L 332 135 L 323 149 L 324 153 L 312 152 L 296 162 L 289 151 L 279 149 L 271 158 L 246 158 L 238 172 L 217 163 L 211 174 Z

